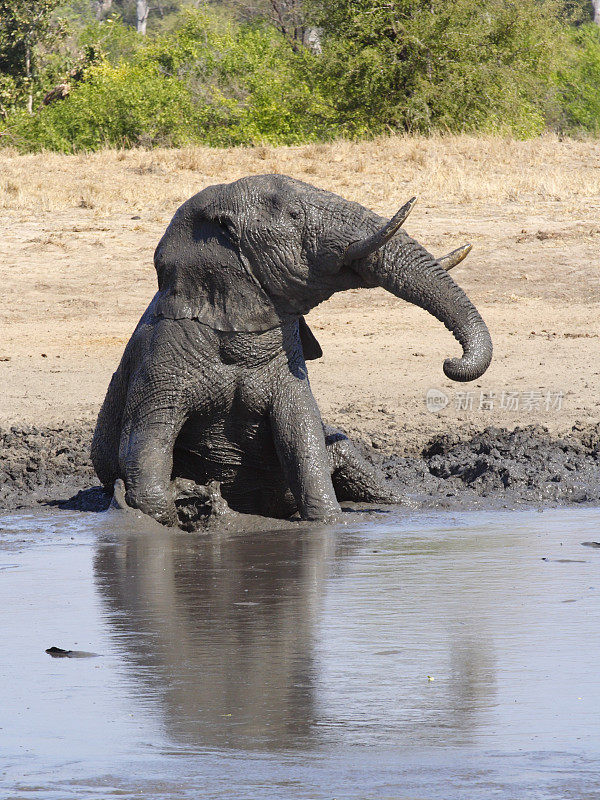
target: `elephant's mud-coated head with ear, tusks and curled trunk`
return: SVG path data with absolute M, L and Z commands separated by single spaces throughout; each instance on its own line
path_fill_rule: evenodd
M 445 374 L 474 380 L 489 366 L 492 343 L 447 271 L 470 247 L 434 258 L 400 229 L 413 202 L 388 222 L 281 175 L 210 186 L 179 208 L 158 244 L 153 313 L 259 332 L 301 319 L 335 292 L 381 286 L 446 325 L 463 355 L 444 362 Z

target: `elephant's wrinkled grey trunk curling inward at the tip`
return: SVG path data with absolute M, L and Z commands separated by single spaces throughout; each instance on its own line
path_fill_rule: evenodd
M 492 360 L 492 340 L 467 295 L 438 261 L 408 236 L 393 239 L 375 257 L 355 269 L 371 284 L 424 308 L 460 342 L 462 358 L 447 358 L 444 373 L 454 381 L 472 381 Z

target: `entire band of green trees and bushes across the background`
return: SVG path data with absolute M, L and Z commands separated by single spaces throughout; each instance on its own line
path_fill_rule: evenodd
M 101 3 L 101 20 L 89 0 L 0 0 L 0 142 L 72 152 L 399 130 L 598 134 L 600 29 L 587 3 L 165 0 L 140 36 L 126 24 L 132 0 Z M 301 43 L 311 26 L 319 54 Z M 67 99 L 42 106 L 62 82 Z

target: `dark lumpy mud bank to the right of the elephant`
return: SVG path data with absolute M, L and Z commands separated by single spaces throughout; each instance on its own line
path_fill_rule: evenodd
M 600 425 L 551 436 L 530 426 L 434 436 L 418 458 L 370 459 L 417 505 L 600 503 Z

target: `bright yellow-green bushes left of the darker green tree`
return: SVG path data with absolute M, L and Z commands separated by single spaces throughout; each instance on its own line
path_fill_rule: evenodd
M 188 11 L 174 33 L 145 43 L 130 59 L 90 67 L 66 100 L 33 120 L 13 119 L 10 141 L 24 150 L 67 152 L 307 141 L 323 133 L 310 58 L 272 28 Z

